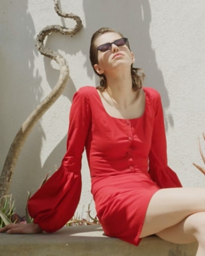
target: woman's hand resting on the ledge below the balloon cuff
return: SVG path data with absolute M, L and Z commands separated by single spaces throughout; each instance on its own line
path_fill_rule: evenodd
M 6 232 L 7 234 L 38 234 L 42 233 L 43 230 L 34 223 L 19 223 L 19 224 L 10 224 L 6 225 L 3 228 L 0 228 L 0 233 Z

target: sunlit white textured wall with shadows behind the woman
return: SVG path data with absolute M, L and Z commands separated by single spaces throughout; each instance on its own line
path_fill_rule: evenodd
M 203 165 L 197 136 L 205 131 L 205 1 L 61 0 L 61 7 L 79 15 L 84 28 L 73 38 L 55 34 L 47 40 L 48 47 L 65 56 L 71 78 L 22 149 L 11 186 L 17 212 L 24 215 L 27 191 L 36 191 L 45 174 L 61 163 L 73 93 L 98 83 L 89 63 L 89 42 L 96 29 L 105 26 L 129 38 L 135 66 L 146 72 L 145 85 L 162 95 L 169 165 L 184 186 L 204 186 L 203 175 L 192 163 Z M 38 32 L 50 24 L 74 23 L 57 16 L 49 0 L 1 0 L 1 168 L 20 125 L 58 79 L 57 65 L 34 47 Z M 205 142 L 203 149 L 205 153 Z M 92 197 L 85 156 L 82 166 L 83 190 L 77 212 L 86 216 Z

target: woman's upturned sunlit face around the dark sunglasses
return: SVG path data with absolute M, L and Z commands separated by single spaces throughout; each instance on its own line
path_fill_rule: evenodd
M 99 45 L 112 43 L 119 38 L 122 37 L 118 33 L 108 32 L 96 38 L 95 46 L 97 48 Z M 134 62 L 133 52 L 130 51 L 126 44 L 119 47 L 112 44 L 110 50 L 105 52 L 98 50 L 96 54 L 98 64 L 95 64 L 94 68 L 98 74 L 107 74 L 110 70 L 118 67 L 130 68 Z

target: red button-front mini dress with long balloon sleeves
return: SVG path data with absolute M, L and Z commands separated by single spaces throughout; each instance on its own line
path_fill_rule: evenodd
M 70 109 L 67 152 L 60 168 L 29 200 L 29 214 L 46 232 L 72 218 L 81 192 L 86 147 L 91 193 L 107 236 L 138 245 L 149 201 L 160 188 L 181 187 L 167 166 L 160 94 L 143 88 L 144 114 L 125 120 L 109 116 L 93 86 L 75 93 Z

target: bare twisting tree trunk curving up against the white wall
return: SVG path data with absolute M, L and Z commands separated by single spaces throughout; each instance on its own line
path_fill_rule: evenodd
M 61 17 L 74 19 L 77 24 L 73 29 L 67 29 L 59 25 L 47 26 L 43 28 L 42 31 L 40 31 L 36 38 L 36 48 L 41 52 L 41 54 L 57 62 L 60 68 L 60 75 L 52 92 L 50 92 L 49 95 L 45 97 L 45 99 L 31 113 L 31 115 L 28 116 L 27 120 L 22 124 L 22 127 L 20 127 L 19 132 L 11 144 L 0 177 L 0 198 L 4 195 L 8 195 L 10 191 L 11 178 L 15 170 L 15 165 L 17 163 L 20 150 L 22 149 L 27 136 L 31 132 L 31 129 L 34 127 L 34 124 L 36 124 L 36 122 L 38 122 L 38 120 L 43 116 L 43 114 L 50 108 L 50 106 L 52 106 L 52 104 L 54 104 L 54 102 L 59 98 L 69 78 L 69 68 L 65 58 L 63 58 L 59 52 L 52 51 L 51 49 L 45 47 L 43 42 L 45 37 L 53 32 L 60 32 L 63 35 L 70 36 L 75 35 L 75 33 L 77 33 L 82 28 L 82 21 L 78 16 L 75 16 L 72 13 L 68 14 L 61 12 L 59 10 L 58 0 L 54 0 L 54 5 L 58 15 Z

